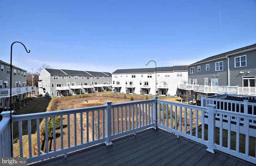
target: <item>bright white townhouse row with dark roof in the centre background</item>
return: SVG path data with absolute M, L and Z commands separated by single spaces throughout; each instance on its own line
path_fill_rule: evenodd
M 178 85 L 187 80 L 187 66 L 118 69 L 112 73 L 112 92 L 175 96 Z

